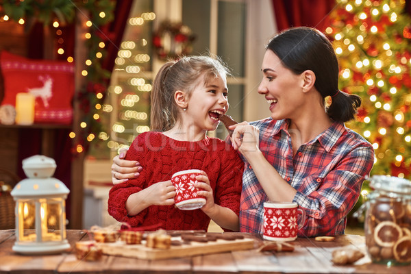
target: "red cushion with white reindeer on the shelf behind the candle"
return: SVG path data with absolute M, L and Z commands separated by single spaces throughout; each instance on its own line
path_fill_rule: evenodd
M 71 124 L 73 63 L 30 60 L 1 51 L 0 64 L 4 81 L 1 105 L 16 105 L 16 95 L 27 92 L 35 98 L 34 123 Z

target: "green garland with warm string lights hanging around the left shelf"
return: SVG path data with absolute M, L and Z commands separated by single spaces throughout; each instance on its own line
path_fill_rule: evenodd
M 58 1 L 55 3 L 32 1 L 30 5 L 6 1 L 0 6 L 0 22 L 13 20 L 24 25 L 26 21 L 38 21 L 43 23 L 45 27 L 53 27 L 58 43 L 58 47 L 55 49 L 58 55 L 66 53 L 64 51 L 66 41 L 63 38 L 63 26 L 73 23 L 75 14 L 80 9 L 82 14 L 88 14 L 87 16 L 90 18 L 84 25 L 87 28 L 84 38 L 86 39 L 88 58 L 85 61 L 86 69 L 81 71 L 81 75 L 85 77 L 83 82 L 86 85 L 82 87 L 82 90 L 77 91 L 78 95 L 75 98 L 79 101 L 79 108 L 83 112 L 81 121 L 79 121 L 80 132 L 77 132 L 79 136 L 76 136 L 75 132 L 69 134 L 69 138 L 75 138 L 77 142 L 73 145 L 74 155 L 87 151 L 90 142 L 95 140 L 96 135 L 108 135 L 102 130 L 99 112 L 107 109 L 102 108 L 101 105 L 103 105 L 107 93 L 110 72 L 102 68 L 101 60 L 105 55 L 105 43 L 110 42 L 110 40 L 103 34 L 101 29 L 112 21 L 114 4 L 113 1 L 99 0 Z M 5 14 L 6 10 L 7 14 Z M 32 20 L 27 20 L 27 18 Z M 68 56 L 66 60 L 67 62 L 75 62 L 73 56 Z

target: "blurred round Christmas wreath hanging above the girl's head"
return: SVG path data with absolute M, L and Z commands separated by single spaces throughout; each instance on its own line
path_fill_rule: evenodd
M 182 23 L 164 21 L 153 33 L 153 47 L 160 60 L 177 59 L 192 51 L 195 35 Z

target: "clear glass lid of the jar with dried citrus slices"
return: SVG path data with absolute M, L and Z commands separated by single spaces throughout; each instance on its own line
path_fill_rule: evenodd
M 411 182 L 408 179 L 394 176 L 373 175 L 370 178 L 370 187 L 388 196 L 390 193 L 411 195 Z

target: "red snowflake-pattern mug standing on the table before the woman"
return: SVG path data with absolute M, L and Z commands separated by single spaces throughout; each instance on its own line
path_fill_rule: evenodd
M 298 212 L 301 219 L 298 220 Z M 294 202 L 265 202 L 263 238 L 266 240 L 290 241 L 297 239 L 298 229 L 306 221 L 306 212 Z

